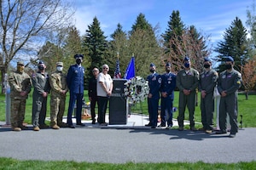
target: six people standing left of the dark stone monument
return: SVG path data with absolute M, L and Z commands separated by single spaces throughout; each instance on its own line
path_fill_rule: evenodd
M 10 98 L 11 98 L 11 127 L 14 131 L 25 130 L 28 127 L 24 124 L 26 99 L 34 88 L 32 94 L 32 126 L 34 131 L 39 131 L 43 128 L 59 129 L 60 127 L 73 126 L 73 110 L 76 105 L 76 124 L 85 126 L 81 122 L 82 102 L 84 99 L 84 67 L 81 65 L 84 56 L 82 54 L 74 55 L 76 60 L 75 65 L 71 65 L 67 74 L 63 72 L 63 63 L 56 63 L 56 70 L 48 74 L 45 69 L 46 65 L 42 60 L 38 62 L 38 71 L 30 77 L 24 71 L 25 65 L 23 62 L 17 62 L 17 70 L 9 74 Z M 102 125 L 107 125 L 105 122 L 105 114 L 108 105 L 108 96 L 112 93 L 113 81 L 108 75 L 108 65 L 102 66 L 102 73 L 99 74 L 97 68 L 93 69 L 94 82 L 98 85 L 93 85 L 96 88 L 90 93 L 91 107 L 95 108 L 96 101 L 98 102 L 98 122 Z M 99 74 L 99 77 L 98 77 Z M 96 79 L 98 77 L 98 80 Z M 93 79 L 91 79 L 93 80 Z M 70 93 L 67 123 L 62 122 L 65 112 L 67 92 Z M 44 122 L 47 111 L 47 99 L 50 94 L 50 123 L 49 126 Z M 94 110 L 93 110 L 94 111 Z M 92 112 L 92 123 L 96 122 L 95 111 Z

